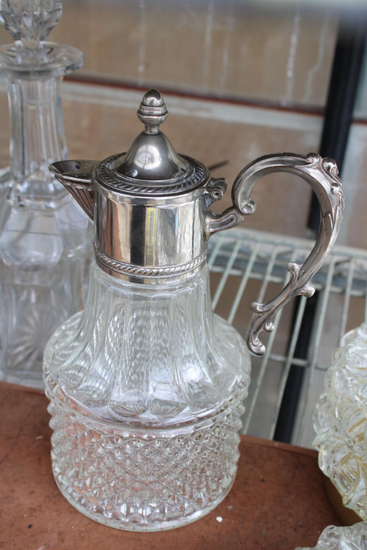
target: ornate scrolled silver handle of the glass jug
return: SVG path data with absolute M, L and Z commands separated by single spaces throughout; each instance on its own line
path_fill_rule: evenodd
M 267 155 L 251 162 L 238 174 L 232 187 L 234 206 L 220 215 L 211 211 L 208 213 L 204 228 L 206 238 L 212 233 L 237 225 L 244 216 L 255 212 L 255 202 L 250 199 L 251 191 L 262 176 L 272 172 L 290 172 L 309 183 L 319 200 L 321 217 L 316 244 L 306 261 L 301 265 L 287 263 L 291 278 L 282 292 L 266 304 L 251 304 L 254 316 L 248 327 L 246 342 L 256 355 L 262 355 L 265 351 L 259 334 L 262 331 L 272 331 L 272 318 L 276 311 L 294 296 L 302 294 L 309 298 L 314 294 L 315 288 L 309 283 L 309 279 L 330 254 L 341 226 L 344 209 L 342 185 L 338 168 L 332 158 L 322 158 L 317 153 L 308 153 L 306 156 L 292 153 Z

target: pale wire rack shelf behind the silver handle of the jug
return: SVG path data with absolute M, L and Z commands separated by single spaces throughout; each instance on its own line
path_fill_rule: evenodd
M 286 263 L 304 262 L 313 245 L 307 239 L 243 229 L 213 236 L 208 256 L 213 309 L 244 335 L 250 303 L 280 292 L 289 277 Z M 295 354 L 307 300 L 301 296 L 276 314 L 273 332 L 262 333 L 266 352 L 253 356 L 243 433 L 274 437 L 288 375 L 302 367 L 292 442 L 311 445 L 311 416 L 332 351 L 346 331 L 367 320 L 367 251 L 336 245 L 312 283 L 317 307 L 306 358 Z

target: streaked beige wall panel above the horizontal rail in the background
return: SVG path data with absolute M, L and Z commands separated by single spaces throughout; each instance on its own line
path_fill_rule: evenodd
M 234 0 L 64 0 L 54 41 L 84 52 L 81 74 L 140 86 L 322 107 L 336 21 L 303 5 Z M 0 43 L 9 42 L 0 27 Z

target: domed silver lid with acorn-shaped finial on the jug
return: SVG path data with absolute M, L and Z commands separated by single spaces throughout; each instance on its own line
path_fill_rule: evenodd
M 145 129 L 127 153 L 106 158 L 96 166 L 98 184 L 135 195 L 176 195 L 199 187 L 209 177 L 203 164 L 178 155 L 160 124 L 167 118 L 162 94 L 149 90 L 138 109 Z

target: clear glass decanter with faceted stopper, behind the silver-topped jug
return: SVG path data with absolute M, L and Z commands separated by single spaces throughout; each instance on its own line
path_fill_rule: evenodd
M 15 45 L 0 48 L 10 111 L 10 167 L 0 177 L 0 376 L 43 387 L 54 329 L 83 306 L 92 224 L 48 171 L 67 157 L 60 86 L 82 54 L 45 42 L 61 0 L 0 1 Z

